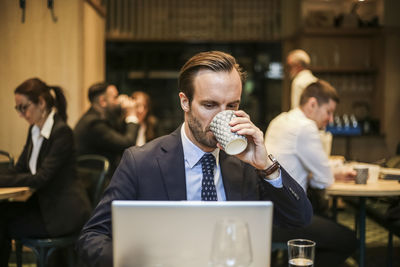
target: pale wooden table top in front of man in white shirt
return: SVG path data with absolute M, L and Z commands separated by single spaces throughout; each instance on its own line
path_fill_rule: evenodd
M 400 183 L 394 180 L 378 180 L 376 183 L 355 184 L 335 182 L 326 189 L 331 196 L 383 197 L 400 195 Z

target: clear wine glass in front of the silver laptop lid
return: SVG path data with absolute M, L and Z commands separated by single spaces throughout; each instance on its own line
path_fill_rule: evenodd
M 210 266 L 247 267 L 252 261 L 247 223 L 239 219 L 217 221 L 213 234 Z

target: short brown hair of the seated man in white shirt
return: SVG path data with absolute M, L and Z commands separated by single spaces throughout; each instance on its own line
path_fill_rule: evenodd
M 330 99 L 339 103 L 339 95 L 336 89 L 324 80 L 318 80 L 304 89 L 300 96 L 300 106 L 304 106 L 311 97 L 317 99 L 318 105 L 328 103 Z

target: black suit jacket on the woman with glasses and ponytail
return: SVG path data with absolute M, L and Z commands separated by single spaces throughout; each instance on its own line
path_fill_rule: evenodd
M 90 215 L 90 203 L 77 180 L 72 130 L 57 114 L 54 116 L 50 137 L 44 138 L 40 148 L 37 172 L 32 175 L 29 170 L 33 148 L 31 128 L 15 171 L 0 175 L 0 186 L 35 189 L 34 195 L 51 236 L 77 232 Z

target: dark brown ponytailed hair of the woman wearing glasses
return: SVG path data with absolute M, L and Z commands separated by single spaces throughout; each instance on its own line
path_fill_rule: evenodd
M 54 94 L 51 93 L 53 91 Z M 48 112 L 53 107 L 57 109 L 57 114 L 63 121 L 67 121 L 67 100 L 63 90 L 59 86 L 48 86 L 38 78 L 32 78 L 24 81 L 15 90 L 14 94 L 25 95 L 34 104 L 39 103 L 40 97 L 46 103 Z

